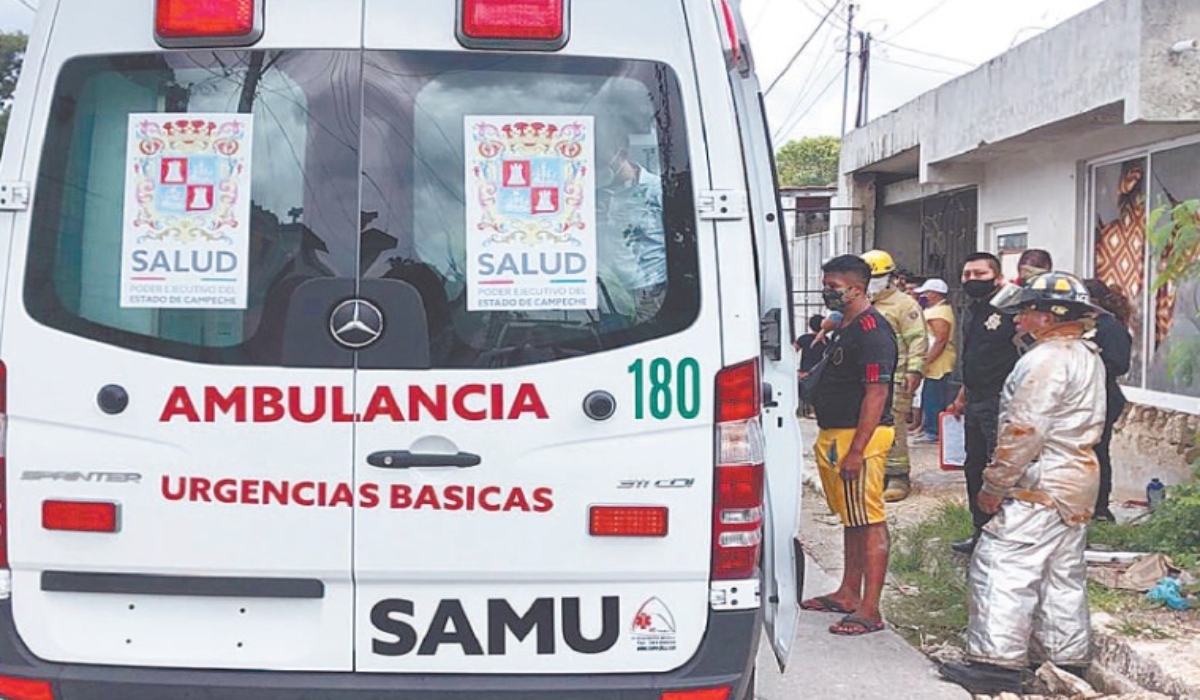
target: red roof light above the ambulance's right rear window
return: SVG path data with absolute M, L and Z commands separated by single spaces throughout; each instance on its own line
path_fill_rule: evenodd
M 458 43 L 474 49 L 558 50 L 570 0 L 458 0 Z

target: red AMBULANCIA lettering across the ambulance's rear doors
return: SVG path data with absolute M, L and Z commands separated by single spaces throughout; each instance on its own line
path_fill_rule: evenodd
M 550 413 L 530 383 L 450 387 L 376 387 L 362 414 L 346 387 L 175 387 L 160 423 L 408 423 L 451 419 L 546 420 Z

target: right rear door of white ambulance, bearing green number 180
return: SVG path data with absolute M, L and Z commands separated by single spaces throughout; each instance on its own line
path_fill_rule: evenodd
M 722 364 L 682 5 L 577 0 L 518 53 L 415 5 L 366 2 L 361 297 L 428 354 L 359 352 L 355 668 L 678 668 Z

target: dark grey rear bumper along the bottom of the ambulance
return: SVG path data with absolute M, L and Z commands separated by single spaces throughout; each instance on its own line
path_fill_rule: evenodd
M 664 690 L 750 682 L 762 610 L 709 611 L 690 662 L 665 674 L 380 675 L 206 671 L 52 664 L 20 641 L 10 602 L 0 603 L 0 675 L 50 681 L 55 700 L 659 700 Z

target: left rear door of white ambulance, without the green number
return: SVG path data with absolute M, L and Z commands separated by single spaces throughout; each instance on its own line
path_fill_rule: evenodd
M 361 11 L 270 5 L 254 50 L 167 52 L 152 2 L 43 1 L 0 340 L 41 659 L 353 668 L 353 352 L 326 310 L 358 273 Z

